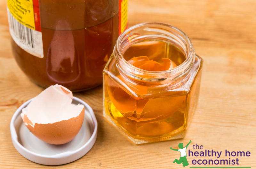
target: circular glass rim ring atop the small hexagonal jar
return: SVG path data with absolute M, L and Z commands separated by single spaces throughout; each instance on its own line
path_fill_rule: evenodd
M 124 40 L 125 36 L 128 35 L 133 29 L 141 27 L 141 26 L 152 26 L 152 25 L 161 25 L 164 26 L 167 30 L 167 28 L 175 30 L 177 32 L 179 32 L 184 38 L 184 40 L 187 41 L 188 46 L 189 46 L 189 50 L 187 53 L 187 57 L 186 59 L 177 67 L 174 67 L 170 70 L 165 70 L 165 71 L 147 71 L 147 70 L 143 70 L 137 67 L 134 67 L 133 65 L 131 65 L 128 61 L 126 61 L 122 55 L 122 51 L 121 51 L 121 43 Z M 114 54 L 118 57 L 117 61 L 121 61 L 123 62 L 129 69 L 131 69 L 133 72 L 138 72 L 139 74 L 148 74 L 148 75 L 163 75 L 163 74 L 175 74 L 177 72 L 182 71 L 183 69 L 187 69 L 189 67 L 191 67 L 191 65 L 193 65 L 194 60 L 195 60 L 195 51 L 194 51 L 194 47 L 192 44 L 191 39 L 188 37 L 188 35 L 183 32 L 182 30 L 180 30 L 179 28 L 166 24 L 166 23 L 162 23 L 162 22 L 145 22 L 145 23 L 140 23 L 137 25 L 133 25 L 132 27 L 128 28 L 127 30 L 125 30 L 124 32 L 122 32 L 120 34 L 120 36 L 118 37 L 118 39 L 116 40 L 116 45 L 114 48 Z

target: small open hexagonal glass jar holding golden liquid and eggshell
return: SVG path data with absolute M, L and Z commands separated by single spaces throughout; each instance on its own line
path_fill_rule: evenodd
M 131 64 L 145 56 L 156 65 L 168 58 L 176 67 L 148 71 Z M 202 64 L 180 29 L 132 26 L 118 37 L 103 70 L 103 115 L 135 144 L 183 138 L 198 102 Z

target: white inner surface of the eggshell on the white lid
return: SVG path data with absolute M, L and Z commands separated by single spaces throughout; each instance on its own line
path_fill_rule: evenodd
M 24 121 L 26 115 L 31 123 L 25 125 L 34 127 L 35 123 L 48 124 L 77 117 L 84 109 L 84 105 L 71 104 L 72 100 L 73 94 L 67 88 L 58 84 L 50 86 L 22 109 L 22 120 Z

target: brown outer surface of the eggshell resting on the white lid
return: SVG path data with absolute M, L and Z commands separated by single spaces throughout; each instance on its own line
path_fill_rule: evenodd
M 50 144 L 65 144 L 71 141 L 78 134 L 84 122 L 84 109 L 79 116 L 62 120 L 60 122 L 38 124 L 32 127 L 30 120 L 24 115 L 24 123 L 27 123 L 28 130 L 40 140 Z

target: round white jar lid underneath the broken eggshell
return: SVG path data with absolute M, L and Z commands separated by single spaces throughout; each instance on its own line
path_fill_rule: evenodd
M 16 150 L 25 158 L 44 165 L 61 165 L 83 157 L 91 150 L 97 137 L 98 123 L 92 108 L 77 97 L 74 104 L 85 106 L 84 123 L 76 137 L 66 144 L 53 145 L 35 137 L 25 126 L 20 116 L 32 99 L 22 104 L 14 113 L 11 120 L 12 143 Z

